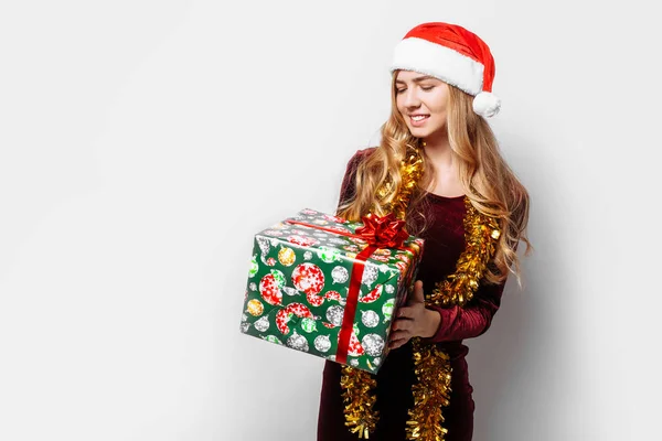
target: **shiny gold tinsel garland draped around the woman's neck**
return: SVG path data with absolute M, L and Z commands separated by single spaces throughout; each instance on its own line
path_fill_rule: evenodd
M 425 144 L 424 144 L 425 146 Z M 401 163 L 402 183 L 396 197 L 388 204 L 388 211 L 404 219 L 412 192 L 423 175 L 423 158 L 416 149 L 408 149 Z M 389 192 L 389 183 L 384 184 L 377 195 L 384 197 Z M 478 212 L 468 197 L 465 197 L 465 251 L 460 255 L 456 272 L 438 282 L 426 304 L 438 306 L 463 306 L 479 287 L 488 262 L 495 251 L 499 226 L 494 218 Z M 441 407 L 450 402 L 450 380 L 452 368 L 449 357 L 435 344 L 426 344 L 419 337 L 412 338 L 414 370 L 418 383 L 412 388 L 414 408 L 409 409 L 407 438 L 419 441 L 442 441 L 447 430 L 442 428 Z M 373 409 L 376 377 L 350 366 L 342 367 L 341 387 L 345 402 L 345 424 L 359 438 L 369 438 L 374 432 L 378 412 Z

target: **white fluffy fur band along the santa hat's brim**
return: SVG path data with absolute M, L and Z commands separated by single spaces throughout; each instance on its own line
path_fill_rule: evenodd
M 431 75 L 477 95 L 482 90 L 484 66 L 466 55 L 415 36 L 401 40 L 393 53 L 391 71 L 404 69 Z

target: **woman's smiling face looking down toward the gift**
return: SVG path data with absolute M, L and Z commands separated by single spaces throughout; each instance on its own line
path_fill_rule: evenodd
M 395 101 L 413 136 L 428 138 L 446 128 L 448 85 L 412 71 L 399 71 Z

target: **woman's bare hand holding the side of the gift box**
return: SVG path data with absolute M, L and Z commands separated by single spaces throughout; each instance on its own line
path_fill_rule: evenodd
M 397 316 L 391 327 L 388 347 L 401 347 L 412 337 L 431 337 L 437 333 L 441 316 L 437 311 L 425 308 L 423 282 L 414 283 L 414 294 L 406 306 L 397 310 Z

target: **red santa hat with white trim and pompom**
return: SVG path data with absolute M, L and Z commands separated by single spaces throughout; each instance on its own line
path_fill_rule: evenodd
M 473 96 L 473 111 L 484 118 L 499 112 L 492 94 L 494 58 L 478 35 L 457 24 L 423 23 L 395 46 L 391 72 L 415 71 L 434 76 Z

